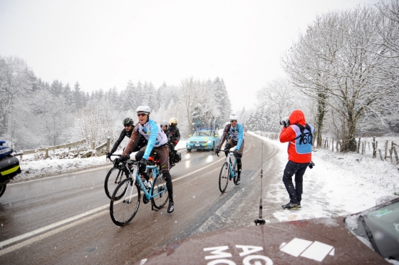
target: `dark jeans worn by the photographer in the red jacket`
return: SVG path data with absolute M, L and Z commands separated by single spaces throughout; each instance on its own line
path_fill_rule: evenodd
M 302 192 L 303 192 L 303 177 L 306 171 L 306 167 L 309 166 L 310 163 L 296 163 L 289 161 L 286 164 L 286 168 L 284 170 L 283 182 L 284 186 L 286 186 L 286 190 L 289 194 L 289 200 L 291 203 L 301 203 Z M 295 187 L 292 183 L 292 176 L 295 175 Z

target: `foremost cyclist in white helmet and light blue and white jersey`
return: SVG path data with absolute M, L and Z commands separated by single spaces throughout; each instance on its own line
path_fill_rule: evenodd
M 157 125 L 154 120 L 150 120 L 151 109 L 149 106 L 139 106 L 136 110 L 136 113 L 138 115 L 139 122 L 135 125 L 128 146 L 126 146 L 120 159 L 126 160 L 128 158 L 130 149 L 132 149 L 135 141 L 138 140 L 140 135 L 147 139 L 147 146 L 142 147 L 141 150 L 136 153 L 135 159 L 136 161 L 140 161 L 140 173 L 142 173 L 142 175 L 144 175 L 148 181 L 148 176 L 145 174 L 147 159 L 152 150 L 158 153 L 160 156 L 161 171 L 166 180 L 167 192 L 169 193 L 169 206 L 167 207 L 167 212 L 171 213 L 175 207 L 173 204 L 172 178 L 170 177 L 169 173 L 169 147 L 167 146 L 167 136 L 160 128 L 160 125 Z

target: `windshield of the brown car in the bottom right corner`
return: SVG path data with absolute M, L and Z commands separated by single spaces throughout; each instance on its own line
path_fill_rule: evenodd
M 369 212 L 363 220 L 380 255 L 399 260 L 399 202 Z

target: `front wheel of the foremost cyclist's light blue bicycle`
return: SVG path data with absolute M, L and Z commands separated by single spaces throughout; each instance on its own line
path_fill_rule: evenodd
M 115 199 L 119 197 L 120 199 Z M 140 187 L 128 177 L 119 183 L 110 202 L 110 215 L 114 224 L 123 227 L 132 221 L 140 206 Z

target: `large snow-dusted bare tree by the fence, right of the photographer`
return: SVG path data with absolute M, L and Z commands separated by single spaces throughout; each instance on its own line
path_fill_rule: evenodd
M 388 82 L 395 76 L 384 71 L 389 58 L 380 56 L 386 48 L 370 41 L 378 19 L 371 6 L 320 16 L 283 61 L 293 83 L 318 101 L 320 114 L 326 105 L 336 113 L 344 151 L 356 150 L 356 125 L 362 115 L 379 115 L 380 106 L 396 92 Z

